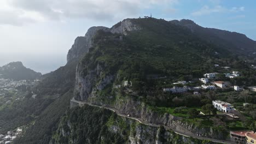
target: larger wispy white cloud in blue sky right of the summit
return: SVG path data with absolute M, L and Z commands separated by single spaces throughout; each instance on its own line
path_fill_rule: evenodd
M 212 13 L 220 13 L 225 10 L 226 9 L 223 8 L 221 5 L 217 5 L 216 7 L 213 7 L 213 8 L 210 8 L 210 7 L 208 7 L 208 5 L 205 5 L 200 10 L 197 10 L 197 11 L 191 13 L 191 15 L 193 15 L 193 16 L 208 15 L 208 14 L 212 14 Z

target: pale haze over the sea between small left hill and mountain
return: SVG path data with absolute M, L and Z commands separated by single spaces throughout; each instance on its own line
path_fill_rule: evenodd
M 42 74 L 50 73 L 57 68 L 66 64 L 66 55 L 63 53 L 54 55 L 49 54 L 32 54 L 32 53 L 7 53 L 0 52 L 0 67 L 10 62 L 20 61 L 27 68 L 34 71 L 40 72 Z

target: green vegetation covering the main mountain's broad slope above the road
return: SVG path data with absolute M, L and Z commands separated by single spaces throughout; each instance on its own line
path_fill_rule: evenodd
M 230 70 L 214 67 L 216 63 L 228 65 L 232 70 L 239 70 L 242 75 L 229 79 L 223 74 L 218 74 L 216 80 L 228 80 L 231 85 L 241 86 L 256 82 L 255 70 L 250 69 L 249 64 L 245 63 L 245 57 L 232 55 L 227 49 L 198 38 L 188 29 L 164 20 L 131 19 L 131 21 L 142 29 L 128 32 L 127 35 L 123 35 L 122 41 L 112 40 L 118 38 L 119 34 L 98 31 L 94 40 L 96 45 L 81 61 L 83 76 L 94 69 L 95 65 L 101 65 L 104 69 L 97 77 L 98 81 L 107 75 L 115 76 L 103 91 L 97 92 L 99 98 L 94 100 L 113 105 L 121 103 L 120 97 L 131 97 L 140 100 L 149 109 L 160 114 L 170 113 L 187 119 L 187 122 L 193 122 L 191 119 L 197 117 L 198 110 L 207 115 L 217 114 L 217 110 L 211 104 L 212 100 L 230 103 L 244 100 L 231 99 L 233 89 L 200 91 L 199 95 L 193 95 L 190 91 L 184 94 L 164 93 L 162 88 L 172 87 L 173 82 L 181 80 L 193 81 L 186 84 L 187 86 L 200 86 L 202 83 L 198 78 L 205 73 L 230 73 Z M 219 55 L 215 55 L 215 51 L 218 51 Z M 250 77 L 250 80 L 246 77 Z M 126 80 L 132 82 L 132 87 L 121 87 L 120 92 L 110 88 L 112 85 L 122 85 Z M 130 90 L 135 93 L 127 93 Z M 152 93 L 146 93 L 147 91 Z M 248 96 L 246 101 L 255 103 L 253 98 Z M 213 118 L 218 123 L 217 128 L 228 128 L 223 119 L 216 116 L 200 117 L 200 121 L 196 123 L 214 125 Z

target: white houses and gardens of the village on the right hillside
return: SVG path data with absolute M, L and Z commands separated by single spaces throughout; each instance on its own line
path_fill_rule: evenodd
M 218 64 L 215 64 L 214 67 L 219 67 Z M 230 67 L 222 67 L 225 69 L 225 71 L 231 71 Z M 218 97 L 215 97 L 214 100 L 209 101 L 206 99 L 201 99 L 202 101 L 209 101 L 206 102 L 205 106 L 202 106 L 201 108 L 196 108 L 196 109 L 190 109 L 189 106 L 187 107 L 184 105 L 183 107 L 176 107 L 173 109 L 174 111 L 171 112 L 172 115 L 177 115 L 177 113 L 183 113 L 182 111 L 187 111 L 188 115 L 185 115 L 184 118 L 195 118 L 197 117 L 208 117 L 207 119 L 214 119 L 214 123 L 219 125 L 220 123 L 223 123 L 228 127 L 230 130 L 229 137 L 230 141 L 236 142 L 236 143 L 254 143 L 256 142 L 256 134 L 254 134 L 253 130 L 255 129 L 255 119 L 256 119 L 256 112 L 255 111 L 250 111 L 254 110 L 255 105 L 247 103 L 247 97 L 249 97 L 248 94 L 256 94 L 256 86 L 244 86 L 244 85 L 232 85 L 229 80 L 234 79 L 235 77 L 240 77 L 242 74 L 240 71 L 231 71 L 231 73 L 206 73 L 203 75 L 202 78 L 200 79 L 192 79 L 189 81 L 178 81 L 178 82 L 173 82 L 171 85 L 173 87 L 164 87 L 162 88 L 162 92 L 171 94 L 171 95 L 176 95 L 176 98 L 178 99 L 181 97 L 181 95 L 202 95 L 206 93 L 246 93 L 243 99 L 245 99 L 244 103 L 236 103 L 234 101 L 234 105 L 231 103 L 227 103 L 225 101 L 222 101 L 223 98 L 218 99 Z M 152 76 L 151 76 L 152 78 Z M 160 76 L 155 76 L 153 79 L 161 79 L 161 80 L 166 80 L 167 77 L 160 77 Z M 164 82 L 166 83 L 166 82 Z M 191 86 L 193 85 L 193 86 Z M 123 86 L 126 87 L 128 90 L 127 92 L 130 92 L 132 94 L 138 94 L 135 91 L 132 91 L 132 81 L 124 81 Z M 120 88 L 121 85 L 119 85 L 116 88 Z M 143 93 L 143 92 L 141 92 Z M 182 97 L 183 97 L 182 96 Z M 174 98 L 175 99 L 175 98 Z M 173 101 L 175 103 L 175 101 Z M 212 105 L 212 106 L 211 106 Z M 194 106 L 195 107 L 195 106 Z M 207 108 L 205 108 L 207 107 Z M 194 114 L 191 114 L 191 111 L 198 111 L 195 112 Z M 176 112 L 178 111 L 178 112 Z M 247 111 L 247 112 L 246 112 Z M 248 117 L 250 115 L 250 117 Z M 178 115 L 181 116 L 181 115 Z M 254 119 L 253 124 L 242 124 L 243 122 L 246 121 L 251 121 L 249 119 Z M 197 120 L 193 120 L 197 121 Z M 243 121 L 243 122 L 242 122 Z M 213 123 L 212 123 L 213 124 Z M 212 125 L 210 124 L 210 125 Z M 220 124 L 219 127 L 223 127 L 223 124 Z M 208 125 L 208 126 L 210 126 Z M 246 126 L 247 125 L 247 126 Z M 207 126 L 207 125 L 205 125 Z M 198 134 L 201 135 L 201 134 Z

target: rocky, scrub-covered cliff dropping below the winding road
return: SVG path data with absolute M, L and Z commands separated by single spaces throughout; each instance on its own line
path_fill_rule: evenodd
M 77 117 L 78 115 L 79 118 Z M 94 120 L 92 121 L 92 119 Z M 69 110 L 61 119 L 61 123 L 59 123 L 59 127 L 55 131 L 50 144 L 74 144 L 80 142 L 131 144 L 214 143 L 184 137 L 171 130 L 166 130 L 164 127 L 151 127 L 133 119 L 117 116 L 112 111 L 90 106 Z

